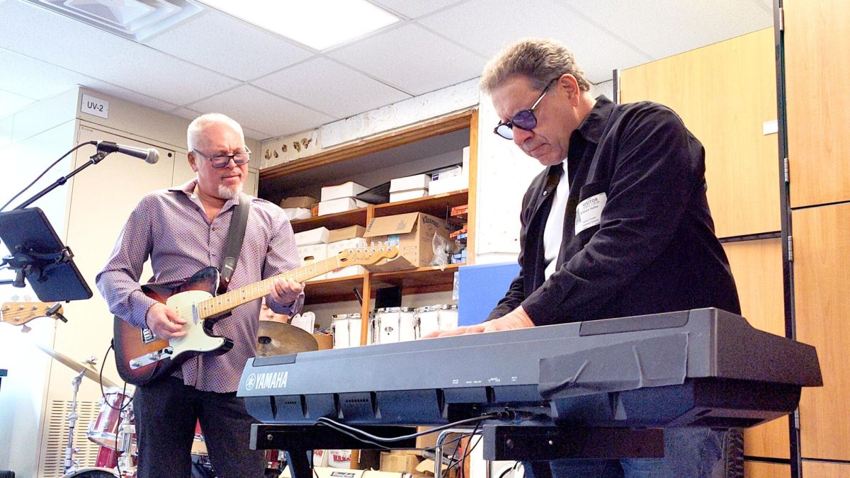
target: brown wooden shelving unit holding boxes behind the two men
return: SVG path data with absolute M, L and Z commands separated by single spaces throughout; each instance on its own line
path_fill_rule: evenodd
M 468 135 L 459 137 L 463 130 Z M 427 213 L 439 218 L 449 218 L 451 208 L 469 204 L 467 217 L 467 257 L 473 258 L 474 248 L 474 203 L 475 184 L 477 175 L 477 143 L 478 143 L 478 111 L 469 110 L 451 114 L 447 117 L 431 120 L 379 135 L 375 138 L 363 139 L 354 145 L 343 145 L 329 151 L 287 162 L 272 168 L 265 168 L 260 172 L 260 196 L 273 202 L 277 202 L 281 196 L 297 196 L 291 194 L 298 191 L 303 194 L 307 188 L 322 184 L 338 184 L 349 180 L 355 174 L 363 171 L 388 167 L 392 165 L 395 170 L 404 169 L 405 162 L 388 162 L 386 156 L 374 160 L 371 163 L 370 155 L 381 155 L 383 151 L 399 148 L 403 145 L 422 144 L 425 149 L 433 145 L 439 145 L 441 135 L 457 141 L 464 139 L 469 146 L 469 188 L 462 191 L 453 191 L 436 196 L 426 196 L 402 202 L 370 205 L 366 208 L 354 209 L 344 213 L 326 214 L 309 219 L 298 219 L 292 221 L 292 229 L 295 232 L 311 230 L 317 227 L 338 229 L 350 225 L 367 226 L 373 218 L 391 216 L 401 213 Z M 405 155 L 399 155 L 405 157 Z M 410 161 L 411 168 L 421 167 L 414 160 Z M 418 174 L 420 170 L 411 170 L 407 174 Z M 399 270 L 393 272 L 366 271 L 360 276 L 339 277 L 307 283 L 307 304 L 328 304 L 333 302 L 350 301 L 354 298 L 354 288 L 360 289 L 364 298 L 373 299 L 375 291 L 382 287 L 402 287 L 405 295 L 416 293 L 433 293 L 450 291 L 454 274 L 460 265 L 451 264 L 444 267 L 421 267 L 413 270 Z M 360 313 L 361 316 L 369 316 L 371 309 L 370 300 L 364 300 Z M 362 322 L 361 344 L 365 344 L 367 336 L 366 329 L 368 321 Z

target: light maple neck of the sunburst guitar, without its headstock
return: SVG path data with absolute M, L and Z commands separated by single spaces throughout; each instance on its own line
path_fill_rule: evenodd
M 207 317 L 217 316 L 228 310 L 235 309 L 241 304 L 246 304 L 252 300 L 259 299 L 269 294 L 269 288 L 275 279 L 292 279 L 296 282 L 304 282 L 315 276 L 321 276 L 326 272 L 342 267 L 337 256 L 317 260 L 304 265 L 297 269 L 289 270 L 283 274 L 269 277 L 260 282 L 254 282 L 238 289 L 230 290 L 227 293 L 217 295 L 210 299 L 202 300 L 197 303 L 199 318 L 206 319 Z

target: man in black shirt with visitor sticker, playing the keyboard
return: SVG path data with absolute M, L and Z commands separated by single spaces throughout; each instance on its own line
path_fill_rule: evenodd
M 440 335 L 700 307 L 740 314 L 706 199 L 705 151 L 675 112 L 593 98 L 573 54 L 549 40 L 507 47 L 480 84 L 501 119 L 494 133 L 547 168 L 523 198 L 519 276 L 486 322 Z M 558 460 L 550 469 L 724 476 L 725 436 L 666 430 L 665 458 Z

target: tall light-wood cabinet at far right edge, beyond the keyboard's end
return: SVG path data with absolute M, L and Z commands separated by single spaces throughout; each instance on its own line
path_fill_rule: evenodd
M 850 3 L 784 0 L 789 202 L 797 339 L 824 387 L 800 404 L 803 474 L 850 475 Z

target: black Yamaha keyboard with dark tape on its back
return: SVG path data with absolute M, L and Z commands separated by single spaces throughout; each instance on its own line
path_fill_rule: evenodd
M 447 424 L 483 413 L 592 428 L 749 427 L 820 386 L 814 348 L 699 309 L 249 359 L 266 424 Z

